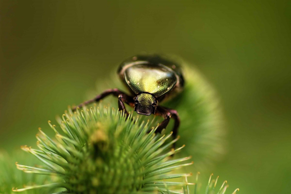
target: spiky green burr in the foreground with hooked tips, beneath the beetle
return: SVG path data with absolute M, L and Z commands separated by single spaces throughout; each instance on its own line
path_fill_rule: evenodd
M 131 115 L 125 118 L 117 110 L 99 110 L 94 106 L 74 113 L 66 111 L 58 122 L 59 127 L 49 122 L 55 139 L 39 129 L 38 149 L 22 147 L 44 167 L 16 164 L 26 173 L 56 176 L 58 181 L 14 191 L 48 187 L 65 188 L 65 192 L 77 194 L 181 193 L 182 187 L 191 184 L 167 181 L 190 176 L 171 172 L 192 163 L 183 163 L 190 157 L 171 158 L 184 146 L 172 150 L 178 138 L 171 140 L 172 133 L 155 134 L 157 127 L 150 128 L 149 121 Z

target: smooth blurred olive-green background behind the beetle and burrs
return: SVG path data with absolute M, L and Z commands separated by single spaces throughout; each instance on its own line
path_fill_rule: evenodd
M 290 2 L 0 1 L 0 149 L 35 142 L 128 56 L 174 54 L 223 106 L 228 152 L 205 177 L 290 193 Z

